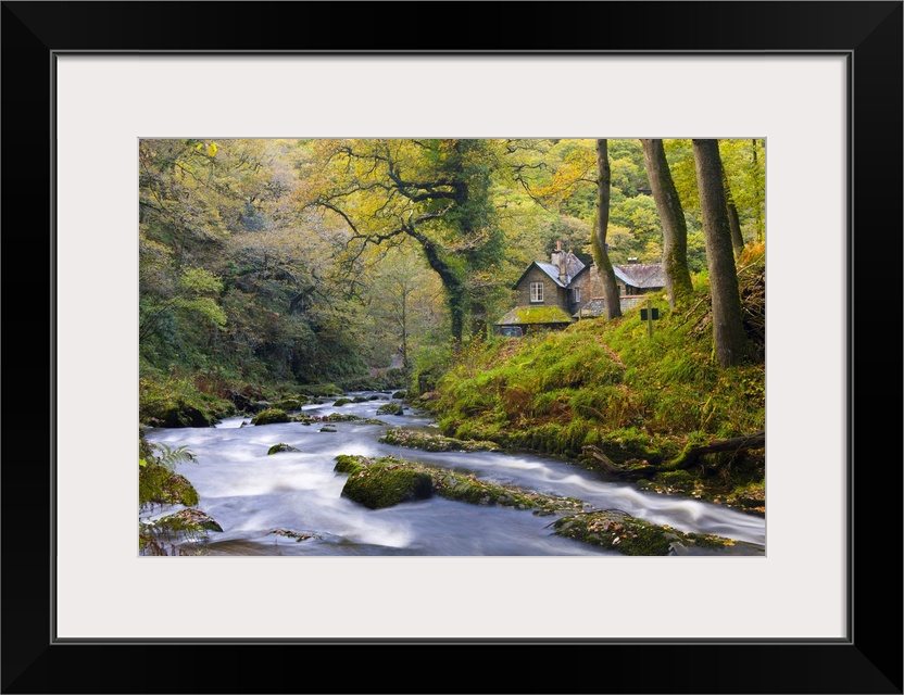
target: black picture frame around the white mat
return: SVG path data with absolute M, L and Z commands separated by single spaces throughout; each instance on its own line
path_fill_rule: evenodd
M 3 693 L 902 693 L 902 2 L 13 1 L 0 21 Z M 53 410 L 66 346 L 53 340 L 52 90 L 67 51 L 846 55 L 847 639 L 56 643 L 53 421 L 92 416 Z M 739 616 L 761 598 L 739 596 Z

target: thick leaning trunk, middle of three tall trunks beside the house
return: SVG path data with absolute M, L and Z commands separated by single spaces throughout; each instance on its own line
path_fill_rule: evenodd
M 693 294 L 691 274 L 688 270 L 688 224 L 685 211 L 662 140 L 641 140 L 643 146 L 643 164 L 646 167 L 646 178 L 656 201 L 660 222 L 663 226 L 663 269 L 665 270 L 665 287 L 668 291 L 668 305 L 671 308 L 680 306 Z

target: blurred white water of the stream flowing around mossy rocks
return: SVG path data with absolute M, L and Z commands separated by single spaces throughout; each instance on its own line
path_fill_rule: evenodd
M 151 443 L 186 445 L 197 463 L 178 466 L 200 495 L 197 507 L 223 528 L 191 546 L 210 555 L 428 555 L 550 556 L 617 555 L 615 551 L 552 534 L 555 516 L 511 507 L 477 506 L 434 496 L 387 509 L 367 509 L 341 496 L 347 475 L 334 471 L 336 456 L 397 456 L 467 472 L 480 479 L 545 494 L 577 497 L 595 508 L 618 509 L 681 531 L 714 533 L 741 541 L 724 554 L 762 555 L 765 519 L 719 505 L 607 482 L 593 471 L 555 458 L 494 452 L 430 453 L 382 444 L 390 427 L 437 430 L 429 417 L 405 406 L 401 416 L 376 415 L 380 400 L 335 407 L 306 405 L 309 415 L 352 414 L 386 422 L 286 422 L 250 425 L 227 418 L 213 428 L 150 429 Z M 248 425 L 242 426 L 243 422 Z M 335 432 L 322 431 L 322 428 Z M 299 452 L 267 455 L 277 443 Z M 160 517 L 180 507 L 156 508 Z M 303 541 L 274 534 L 281 529 L 312 534 Z M 190 544 L 189 544 L 190 545 Z M 710 551 L 712 553 L 712 551 Z

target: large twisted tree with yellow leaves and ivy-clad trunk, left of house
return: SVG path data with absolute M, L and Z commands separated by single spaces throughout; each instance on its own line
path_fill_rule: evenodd
M 324 141 L 327 170 L 304 203 L 344 220 L 352 258 L 368 244 L 416 241 L 445 289 L 456 344 L 468 317 L 486 313 L 486 287 L 473 278 L 503 255 L 490 194 L 498 147 L 493 140 Z

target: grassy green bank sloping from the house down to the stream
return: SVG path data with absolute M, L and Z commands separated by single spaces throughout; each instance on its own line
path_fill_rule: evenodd
M 705 278 L 653 337 L 631 309 L 562 331 L 475 344 L 428 401 L 441 432 L 565 457 L 641 486 L 765 510 L 765 451 L 704 454 L 693 447 L 765 428 L 765 274 L 762 253 L 739 260 L 750 354 L 721 369 L 713 355 Z M 593 452 L 600 455 L 594 457 Z M 601 465 L 601 459 L 607 462 Z

